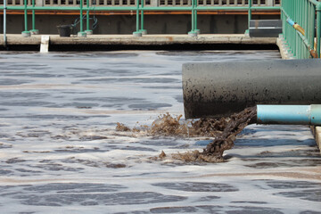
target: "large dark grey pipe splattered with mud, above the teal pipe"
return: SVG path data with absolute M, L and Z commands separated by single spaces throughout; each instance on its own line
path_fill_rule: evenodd
M 256 104 L 321 103 L 321 60 L 187 63 L 185 118 L 222 117 Z

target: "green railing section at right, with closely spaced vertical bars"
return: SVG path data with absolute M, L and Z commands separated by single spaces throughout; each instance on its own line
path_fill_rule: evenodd
M 283 0 L 281 19 L 288 52 L 297 59 L 319 58 L 321 2 Z

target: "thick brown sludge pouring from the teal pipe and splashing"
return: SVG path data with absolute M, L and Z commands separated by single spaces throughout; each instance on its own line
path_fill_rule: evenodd
M 182 115 L 173 118 L 169 113 L 159 116 L 152 122 L 152 127 L 147 133 L 153 136 L 210 136 L 215 137 L 213 142 L 208 144 L 202 152 L 198 150 L 172 154 L 172 158 L 193 162 L 222 162 L 223 152 L 234 146 L 235 136 L 247 125 L 255 123 L 257 118 L 256 107 L 247 108 L 235 113 L 228 118 L 221 119 L 199 119 L 193 122 L 180 123 Z M 190 124 L 189 124 L 190 123 Z M 146 127 L 144 127 L 146 128 Z M 116 130 L 129 131 L 130 128 L 123 124 L 117 124 Z M 161 159 L 166 157 L 161 153 Z

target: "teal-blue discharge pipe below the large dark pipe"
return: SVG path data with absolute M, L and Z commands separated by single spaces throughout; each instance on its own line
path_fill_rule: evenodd
M 321 104 L 257 105 L 257 123 L 321 125 Z

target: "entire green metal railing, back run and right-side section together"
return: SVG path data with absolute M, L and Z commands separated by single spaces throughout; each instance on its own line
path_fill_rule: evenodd
M 20 0 L 20 4 L 17 4 L 15 0 L 4 0 L 4 4 L 0 5 L 0 10 L 4 11 L 4 16 L 8 10 L 24 12 L 22 34 L 37 34 L 36 11 L 78 11 L 80 16 L 78 36 L 86 36 L 86 33 L 91 32 L 89 12 L 94 11 L 136 12 L 136 31 L 133 33 L 135 36 L 141 36 L 146 32 L 144 29 L 144 12 L 146 11 L 187 11 L 191 13 L 192 22 L 192 28 L 188 33 L 191 36 L 197 36 L 200 32 L 200 29 L 197 28 L 197 13 L 200 11 L 247 11 L 250 21 L 252 11 L 281 10 L 282 37 L 284 37 L 288 52 L 297 59 L 320 58 L 321 0 L 282 0 L 281 6 L 279 5 L 280 1 L 277 0 L 172 0 L 171 4 L 169 4 L 169 0 L 165 0 L 165 2 L 161 2 L 161 0 L 111 0 L 113 4 L 108 5 L 108 1 L 104 1 L 106 4 L 100 4 L 95 0 L 66 0 L 65 4 L 62 4 L 62 0 L 57 0 L 59 5 L 55 5 L 53 0 L 42 1 L 43 4 L 38 5 L 39 1 L 41 0 Z M 70 1 L 73 4 L 70 4 Z M 116 1 L 119 1 L 119 4 L 115 4 Z M 124 1 L 126 1 L 126 5 Z M 49 5 L 46 2 L 49 2 Z M 178 2 L 180 4 L 177 4 Z M 31 29 L 28 26 L 28 12 L 32 12 Z M 86 30 L 83 25 L 84 15 L 86 16 Z M 5 31 L 4 29 L 4 43 L 6 40 Z

